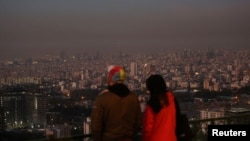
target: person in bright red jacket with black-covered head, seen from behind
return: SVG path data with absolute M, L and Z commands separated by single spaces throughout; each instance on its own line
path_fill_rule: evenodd
M 146 80 L 150 93 L 144 115 L 143 141 L 177 141 L 175 97 L 167 90 L 164 78 L 153 74 Z

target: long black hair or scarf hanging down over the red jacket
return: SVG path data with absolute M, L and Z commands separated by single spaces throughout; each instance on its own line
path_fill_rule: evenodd
M 147 78 L 146 87 L 150 92 L 150 98 L 147 104 L 150 105 L 154 113 L 158 113 L 162 109 L 163 105 L 168 105 L 168 97 L 166 96 L 167 86 L 165 80 L 161 75 L 153 74 Z

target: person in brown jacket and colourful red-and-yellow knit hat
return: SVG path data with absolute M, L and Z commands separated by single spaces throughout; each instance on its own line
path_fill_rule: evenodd
M 125 78 L 122 66 L 108 66 L 108 86 L 96 97 L 91 113 L 93 141 L 132 141 L 140 132 L 139 99 L 123 83 Z

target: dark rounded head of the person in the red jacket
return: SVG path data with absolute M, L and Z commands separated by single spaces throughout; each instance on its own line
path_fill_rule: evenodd
M 165 93 L 167 90 L 165 80 L 159 74 L 153 74 L 147 78 L 146 87 L 150 93 Z

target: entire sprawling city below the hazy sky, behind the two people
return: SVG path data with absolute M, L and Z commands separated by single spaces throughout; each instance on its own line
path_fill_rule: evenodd
M 190 50 L 107 56 L 61 51 L 58 56 L 0 62 L 0 130 L 34 138 L 91 134 L 91 108 L 107 86 L 107 67 L 122 65 L 143 113 L 145 80 L 161 74 L 190 120 L 250 113 L 250 50 Z M 231 112 L 230 112 L 231 111 Z M 234 112 L 232 112 L 234 111 Z M 212 113 L 212 114 L 211 114 Z M 30 136 L 32 137 L 32 136 Z

